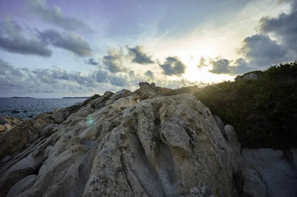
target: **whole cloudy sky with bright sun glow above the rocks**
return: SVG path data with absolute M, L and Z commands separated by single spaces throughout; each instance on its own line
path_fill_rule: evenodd
M 0 0 L 0 97 L 234 80 L 297 59 L 297 0 Z

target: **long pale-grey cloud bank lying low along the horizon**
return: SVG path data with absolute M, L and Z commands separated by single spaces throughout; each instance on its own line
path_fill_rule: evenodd
M 1 58 L 0 68 L 0 97 L 33 93 L 92 95 L 92 92 L 103 93 L 106 90 L 117 91 L 123 88 L 133 91 L 139 88 L 139 82 L 147 81 L 149 76 L 153 76 L 150 71 L 147 71 L 143 76 L 135 74 L 134 71 L 116 75 L 102 69 L 84 74 L 65 71 L 57 66 L 33 70 L 20 69 Z M 193 82 L 187 79 L 168 80 L 166 77 L 154 81 L 159 86 L 171 88 L 205 84 L 201 81 Z

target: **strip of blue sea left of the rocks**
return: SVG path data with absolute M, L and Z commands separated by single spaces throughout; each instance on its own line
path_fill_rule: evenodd
M 22 119 L 31 119 L 29 116 L 34 117 L 38 114 L 45 112 L 52 112 L 55 108 L 65 108 L 74 105 L 77 102 L 83 102 L 85 98 L 69 98 L 69 99 L 0 99 L 0 116 L 7 115 Z M 13 114 L 12 110 L 17 110 L 20 113 Z M 27 113 L 23 113 L 27 111 Z

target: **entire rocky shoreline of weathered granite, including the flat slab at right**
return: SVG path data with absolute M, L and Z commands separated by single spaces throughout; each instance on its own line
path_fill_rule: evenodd
M 196 97 L 170 91 L 141 82 L 4 117 L 17 124 L 0 135 L 0 197 L 296 197 L 296 149 L 242 148 Z

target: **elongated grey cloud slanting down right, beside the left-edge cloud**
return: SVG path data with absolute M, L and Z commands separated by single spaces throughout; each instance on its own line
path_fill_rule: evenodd
M 59 33 L 53 29 L 39 31 L 38 35 L 44 42 L 53 46 L 69 50 L 79 56 L 91 56 L 92 49 L 90 44 L 82 37 L 73 33 Z

